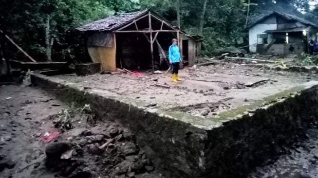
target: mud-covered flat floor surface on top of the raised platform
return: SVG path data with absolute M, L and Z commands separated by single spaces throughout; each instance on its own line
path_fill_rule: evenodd
M 110 97 L 121 95 L 201 117 L 217 115 L 302 83 L 318 80 L 315 73 L 270 71 L 234 63 L 185 68 L 180 71 L 180 76 L 183 81 L 178 83 L 171 82 L 169 73 L 150 75 L 149 72 L 142 72 L 141 76 L 117 73 L 54 77 Z

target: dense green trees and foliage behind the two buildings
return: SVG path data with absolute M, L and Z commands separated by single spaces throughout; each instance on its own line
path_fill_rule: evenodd
M 246 20 L 250 23 L 273 10 L 318 20 L 318 5 L 311 1 L 6 0 L 0 6 L 0 30 L 38 61 L 74 60 L 85 52 L 81 36 L 74 31 L 76 27 L 115 14 L 152 8 L 173 25 L 178 25 L 180 18 L 180 26 L 187 33 L 204 36 L 202 53 L 209 55 L 224 46 L 247 45 Z M 10 58 L 24 57 L 10 44 L 7 49 Z

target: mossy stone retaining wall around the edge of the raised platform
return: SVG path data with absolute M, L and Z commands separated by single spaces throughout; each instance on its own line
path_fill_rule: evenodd
M 301 94 L 286 91 L 277 96 L 279 100 L 274 96 L 231 118 L 204 119 L 200 121 L 203 127 L 197 125 L 198 118 L 185 119 L 186 114 L 180 113 L 166 116 L 163 110 L 145 110 L 57 78 L 34 74 L 32 81 L 54 89 L 65 102 L 89 103 L 101 119 L 131 129 L 156 168 L 167 171 L 167 178 L 245 178 L 253 168 L 284 154 L 286 147 L 304 138 L 318 116 L 317 86 L 303 86 Z

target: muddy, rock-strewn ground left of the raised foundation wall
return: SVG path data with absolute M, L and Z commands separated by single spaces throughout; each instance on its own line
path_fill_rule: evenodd
M 0 178 L 164 178 L 129 130 L 93 117 L 47 91 L 0 86 Z

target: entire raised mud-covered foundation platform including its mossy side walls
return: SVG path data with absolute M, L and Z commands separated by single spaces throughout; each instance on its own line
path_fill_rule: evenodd
M 213 79 L 215 73 L 227 82 L 191 80 Z M 167 169 L 171 178 L 244 178 L 317 122 L 316 75 L 234 64 L 186 69 L 181 75 L 184 81 L 177 84 L 161 75 L 34 74 L 32 79 L 54 89 L 64 101 L 91 104 L 100 118 L 129 127 L 156 167 Z M 255 76 L 253 82 L 270 80 L 254 88 L 235 88 L 243 78 L 252 81 L 246 76 Z M 171 89 L 153 86 L 156 80 Z M 202 112 L 206 109 L 207 114 Z

